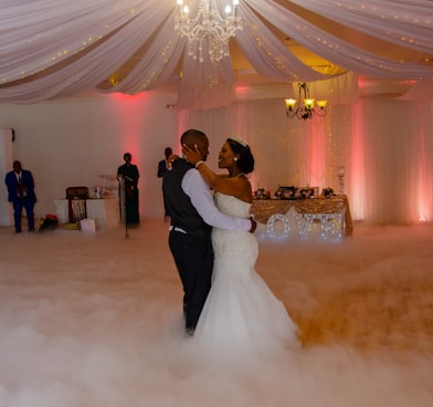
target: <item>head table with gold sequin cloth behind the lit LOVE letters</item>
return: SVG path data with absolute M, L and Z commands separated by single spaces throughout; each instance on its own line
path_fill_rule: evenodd
M 345 195 L 293 200 L 255 199 L 251 212 L 257 222 L 267 225 L 276 217 L 287 217 L 291 212 L 297 221 L 302 237 L 306 237 L 311 225 L 317 221 L 321 222 L 324 233 L 329 221 L 338 223 L 341 234 L 350 236 L 353 232 L 349 201 Z

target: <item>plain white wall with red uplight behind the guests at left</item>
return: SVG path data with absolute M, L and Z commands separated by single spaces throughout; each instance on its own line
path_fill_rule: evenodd
M 98 175 L 115 175 L 128 150 L 140 171 L 141 217 L 162 218 L 157 165 L 163 148 L 179 143 L 172 103 L 169 94 L 146 93 L 0 105 L 0 128 L 15 131 L 13 159 L 33 173 L 36 217 L 53 213 L 70 186 L 105 186 Z

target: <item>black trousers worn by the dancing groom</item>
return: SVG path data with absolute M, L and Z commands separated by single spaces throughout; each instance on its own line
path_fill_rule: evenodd
M 186 327 L 196 328 L 211 288 L 213 249 L 210 237 L 171 230 L 169 247 L 183 285 Z

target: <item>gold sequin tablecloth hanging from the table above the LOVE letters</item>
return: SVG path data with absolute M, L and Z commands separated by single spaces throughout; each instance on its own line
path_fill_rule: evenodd
M 292 208 L 298 213 L 344 213 L 346 236 L 353 232 L 352 219 L 350 215 L 349 201 L 346 196 L 331 198 L 310 199 L 256 199 L 253 201 L 251 212 L 257 222 L 266 223 L 275 213 L 286 215 Z

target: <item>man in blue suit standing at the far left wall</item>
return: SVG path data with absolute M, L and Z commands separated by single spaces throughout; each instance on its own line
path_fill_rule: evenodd
M 34 231 L 34 204 L 36 196 L 34 195 L 34 180 L 32 173 L 21 168 L 20 161 L 13 161 L 13 171 L 6 175 L 4 184 L 8 187 L 8 200 L 13 206 L 13 219 L 15 225 L 15 233 L 21 230 L 22 208 L 25 209 L 28 218 L 29 231 Z

